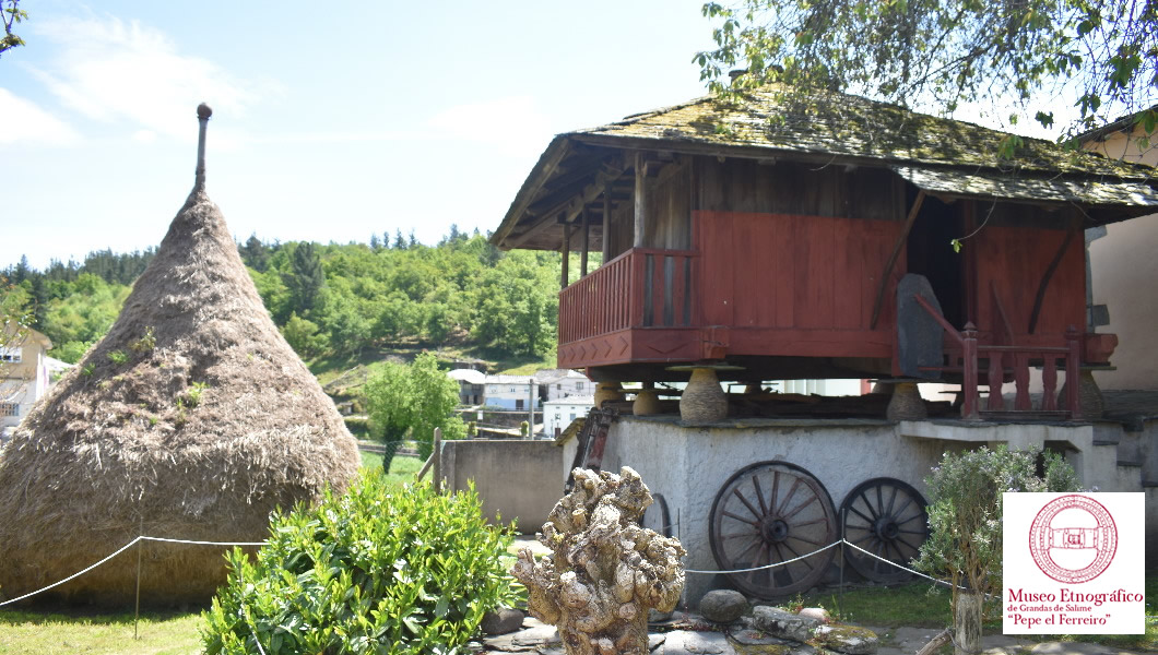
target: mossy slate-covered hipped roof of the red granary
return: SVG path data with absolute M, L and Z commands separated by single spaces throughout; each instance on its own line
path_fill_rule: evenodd
M 610 190 L 613 203 L 631 194 L 625 150 L 887 167 L 931 192 L 960 197 L 1158 206 L 1153 171 L 1145 167 L 1031 138 L 1023 138 L 1014 159 L 1003 160 L 997 153 L 1006 137 L 845 94 L 769 87 L 734 103 L 701 97 L 555 137 L 491 241 L 556 249 L 560 221 L 574 226 L 586 208 L 594 214 L 589 245 L 598 249 L 602 191 Z

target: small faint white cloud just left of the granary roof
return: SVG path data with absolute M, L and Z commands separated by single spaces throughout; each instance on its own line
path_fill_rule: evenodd
M 552 135 L 530 96 L 460 104 L 434 115 L 426 125 L 444 137 L 488 143 L 513 155 L 537 154 Z

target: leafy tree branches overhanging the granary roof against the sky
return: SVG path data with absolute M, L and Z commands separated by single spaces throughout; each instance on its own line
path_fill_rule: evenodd
M 1153 131 L 1152 0 L 740 0 L 703 14 L 717 49 L 695 61 L 716 91 L 786 82 L 948 112 L 1016 100 L 1048 127 L 1065 89 L 1079 116 L 1071 128 L 1145 110 L 1138 122 Z M 727 87 L 734 67 L 747 74 Z

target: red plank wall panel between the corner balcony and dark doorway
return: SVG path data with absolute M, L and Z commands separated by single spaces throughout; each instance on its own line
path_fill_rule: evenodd
M 878 280 L 902 223 L 837 216 L 696 212 L 699 325 L 868 330 Z M 903 262 L 903 257 L 901 258 Z M 895 280 L 904 273 L 897 266 Z M 892 294 L 879 330 L 892 330 Z

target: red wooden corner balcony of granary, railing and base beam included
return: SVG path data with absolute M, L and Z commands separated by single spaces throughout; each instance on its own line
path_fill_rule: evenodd
M 697 253 L 636 248 L 559 292 L 559 367 L 699 358 L 692 280 Z

